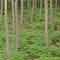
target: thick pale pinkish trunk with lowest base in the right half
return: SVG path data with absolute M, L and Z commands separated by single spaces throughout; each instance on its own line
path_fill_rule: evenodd
M 45 38 L 46 38 L 46 47 L 49 47 L 48 44 L 48 0 L 44 0 L 45 3 Z

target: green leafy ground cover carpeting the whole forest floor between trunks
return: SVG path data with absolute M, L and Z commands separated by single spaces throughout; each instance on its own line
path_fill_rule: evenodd
M 39 17 L 37 9 L 33 23 L 24 20 L 24 25 L 19 26 L 19 51 L 17 53 L 15 51 L 16 35 L 12 34 L 11 12 L 8 13 L 11 60 L 17 60 L 17 58 L 18 60 L 29 60 L 30 58 L 35 60 L 60 60 L 60 11 L 59 9 L 57 12 L 53 11 L 55 31 L 51 31 L 50 20 L 48 23 L 49 48 L 45 47 L 44 9 L 42 12 L 42 17 Z M 25 13 L 26 11 L 24 11 Z M 24 18 L 26 19 L 26 14 Z M 6 59 L 6 33 L 3 16 L 0 23 L 0 60 Z

